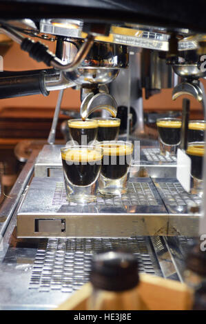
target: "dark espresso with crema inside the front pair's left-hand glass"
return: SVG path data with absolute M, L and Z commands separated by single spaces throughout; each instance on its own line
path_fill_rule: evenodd
M 65 179 L 72 185 L 86 186 L 96 181 L 103 155 L 99 150 L 72 148 L 61 152 Z

